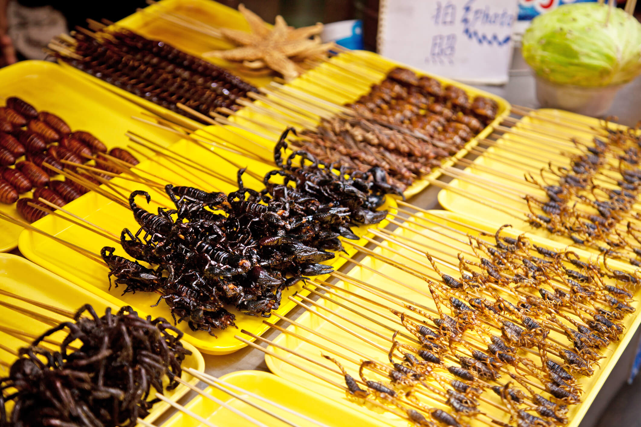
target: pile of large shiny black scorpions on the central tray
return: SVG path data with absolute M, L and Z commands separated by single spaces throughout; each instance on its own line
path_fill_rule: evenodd
M 377 210 L 388 194 L 402 196 L 380 168 L 346 170 L 297 150 L 287 158 L 287 129 L 274 148 L 278 169 L 267 173 L 262 191 L 246 188 L 245 169 L 238 170 L 238 190 L 229 194 L 168 184 L 165 191 L 176 209 L 153 214 L 135 198 L 129 204 L 140 229 L 122 230 L 122 248 L 133 259 L 104 247 L 101 255 L 124 293 L 160 294 L 174 321 L 192 330 L 235 326 L 240 312 L 269 317 L 279 307 L 283 289 L 306 276 L 331 273 L 325 264 L 344 250 L 339 237 L 358 239 L 350 227 L 381 222 Z M 274 180 L 274 182 L 272 182 Z M 275 181 L 278 180 L 278 183 Z M 141 236 L 142 235 L 142 236 Z M 123 293 L 123 294 L 124 294 Z

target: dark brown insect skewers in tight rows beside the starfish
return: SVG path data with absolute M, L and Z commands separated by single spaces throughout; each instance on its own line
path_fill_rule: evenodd
M 178 105 L 204 115 L 216 108 L 235 111 L 238 99 L 257 91 L 221 67 L 127 29 L 78 28 L 49 47 L 72 67 L 194 120 L 200 119 Z

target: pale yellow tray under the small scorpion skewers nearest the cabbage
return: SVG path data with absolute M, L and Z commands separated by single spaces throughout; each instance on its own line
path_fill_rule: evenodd
M 541 113 L 537 113 L 537 111 L 540 111 Z M 550 120 L 560 120 L 573 128 L 569 129 L 568 127 L 556 125 Z M 478 184 L 481 184 L 481 186 L 479 186 L 460 179 L 453 179 L 449 182 L 449 185 L 460 191 L 465 191 L 467 194 L 472 194 L 478 199 L 472 200 L 469 197 L 463 197 L 454 190 L 442 189 L 438 193 L 438 202 L 442 207 L 444 207 L 444 209 L 473 216 L 478 220 L 478 222 L 488 223 L 494 228 L 503 225 L 504 223 L 510 223 L 516 229 L 528 232 L 528 234 L 535 234 L 545 239 L 558 241 L 565 245 L 572 245 L 574 242 L 572 242 L 571 239 L 552 234 L 544 228 L 532 227 L 529 225 L 524 214 L 518 213 L 509 207 L 502 206 L 501 204 L 513 207 L 523 207 L 529 213 L 527 205 L 524 202 L 520 203 L 513 200 L 515 197 L 518 197 L 518 195 L 503 193 L 500 185 L 513 188 L 513 191 L 517 191 L 519 195 L 532 194 L 537 195 L 540 198 L 545 198 L 544 191 L 526 184 L 523 178 L 525 167 L 535 166 L 537 170 L 540 170 L 541 168 L 546 168 L 549 161 L 554 161 L 558 165 L 569 165 L 570 162 L 567 156 L 562 156 L 556 152 L 553 153 L 550 150 L 547 150 L 547 145 L 541 145 L 540 148 L 535 147 L 533 144 L 536 142 L 531 140 L 531 138 L 542 137 L 556 141 L 569 142 L 568 138 L 570 136 L 576 136 L 579 140 L 592 141 L 594 135 L 590 134 L 588 132 L 589 129 L 587 128 L 586 131 L 581 131 L 581 127 L 594 127 L 595 129 L 601 129 L 602 125 L 603 121 L 600 122 L 596 118 L 582 116 L 568 111 L 557 109 L 541 109 L 532 111 L 529 117 L 522 118 L 522 120 L 512 128 L 515 129 L 515 133 L 503 134 L 502 138 L 498 141 L 498 145 L 488 149 L 488 152 L 501 157 L 479 156 L 474 159 L 475 165 L 516 175 L 518 178 L 516 178 L 515 181 L 498 177 L 492 173 L 474 168 L 474 166 L 469 166 L 465 168 L 465 172 L 471 173 L 473 176 L 465 177 L 465 179 L 470 180 L 474 179 L 475 176 L 478 176 L 492 180 L 496 182 L 494 191 L 490 191 L 491 186 L 485 186 L 483 182 L 478 182 Z M 574 127 L 577 129 L 574 129 Z M 619 127 L 624 129 L 626 128 L 624 126 Z M 535 132 L 535 129 L 539 132 Z M 523 141 L 528 142 L 528 144 L 523 144 Z M 520 152 L 520 154 L 515 154 L 515 152 Z M 571 150 L 571 152 L 578 152 L 578 150 Z M 542 182 L 538 173 L 532 173 L 532 175 L 539 182 Z M 550 175 L 546 174 L 545 176 L 549 177 Z M 552 181 L 554 180 L 552 179 Z M 609 186 L 609 184 L 605 185 Z M 501 191 L 503 194 L 498 194 L 495 191 Z M 494 203 L 494 201 L 499 203 Z

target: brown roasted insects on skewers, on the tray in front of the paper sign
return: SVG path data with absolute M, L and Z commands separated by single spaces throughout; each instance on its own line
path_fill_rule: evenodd
M 437 79 L 407 68 L 394 68 L 347 106 L 353 114 L 322 120 L 297 144 L 355 170 L 384 168 L 403 188 L 463 149 L 498 109 L 494 100 L 478 96 L 472 102 L 462 89 L 443 88 Z

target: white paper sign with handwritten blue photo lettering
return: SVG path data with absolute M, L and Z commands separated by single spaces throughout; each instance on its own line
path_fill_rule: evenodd
M 382 0 L 378 51 L 470 83 L 508 80 L 515 0 Z

